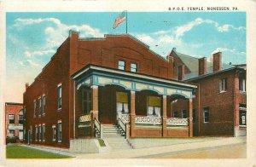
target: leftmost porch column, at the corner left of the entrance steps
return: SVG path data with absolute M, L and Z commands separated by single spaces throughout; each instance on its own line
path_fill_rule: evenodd
M 94 119 L 98 119 L 99 111 L 98 111 L 98 86 L 93 85 L 92 87 L 92 110 L 91 114 L 91 137 L 95 137 L 95 127 L 94 127 Z

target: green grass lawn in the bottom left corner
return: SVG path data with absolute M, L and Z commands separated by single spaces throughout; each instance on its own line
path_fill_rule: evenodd
M 37 149 L 8 145 L 6 146 L 6 158 L 70 158 L 65 155 L 40 151 Z

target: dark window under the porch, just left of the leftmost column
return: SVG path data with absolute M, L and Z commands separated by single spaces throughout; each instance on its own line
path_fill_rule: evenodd
M 82 90 L 82 113 L 90 113 L 92 109 L 92 93 L 89 89 Z

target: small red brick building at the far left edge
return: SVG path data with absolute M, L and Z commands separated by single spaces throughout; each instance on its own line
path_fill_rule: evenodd
M 5 135 L 13 138 L 19 137 L 23 141 L 23 104 L 5 103 Z

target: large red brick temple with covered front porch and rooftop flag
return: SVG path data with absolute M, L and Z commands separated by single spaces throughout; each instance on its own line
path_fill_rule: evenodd
M 172 64 L 172 57 L 157 55 L 128 34 L 79 38 L 70 32 L 35 81 L 26 84 L 26 141 L 81 149 L 95 144 L 90 139 L 108 141 L 119 133 L 192 137 L 196 85 L 173 80 Z M 188 100 L 187 118 L 171 118 L 177 99 Z

